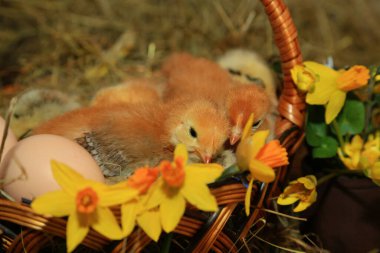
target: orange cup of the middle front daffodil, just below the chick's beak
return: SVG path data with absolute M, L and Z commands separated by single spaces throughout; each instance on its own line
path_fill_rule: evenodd
M 160 164 L 161 174 L 167 185 L 181 187 L 185 181 L 185 161 L 182 157 L 176 157 L 174 163 L 162 161 Z

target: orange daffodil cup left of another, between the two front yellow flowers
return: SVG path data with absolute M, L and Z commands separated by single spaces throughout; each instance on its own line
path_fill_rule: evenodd
M 158 168 L 139 168 L 128 179 L 127 184 L 128 186 L 137 189 L 140 194 L 144 194 L 148 191 L 154 181 L 156 181 L 158 174 Z

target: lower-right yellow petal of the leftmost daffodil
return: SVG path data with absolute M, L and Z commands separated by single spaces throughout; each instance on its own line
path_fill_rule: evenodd
M 91 224 L 91 227 L 112 240 L 119 240 L 123 237 L 115 216 L 106 207 L 99 207 L 97 209 L 97 220 Z

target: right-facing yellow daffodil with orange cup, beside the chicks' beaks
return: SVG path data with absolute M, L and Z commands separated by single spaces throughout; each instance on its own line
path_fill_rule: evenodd
M 241 141 L 236 150 L 237 165 L 251 172 L 251 180 L 245 197 L 245 211 L 249 215 L 251 188 L 254 180 L 269 183 L 275 179 L 273 168 L 289 164 L 288 153 L 278 140 L 265 143 L 269 131 L 258 131 L 249 135 L 253 123 L 250 115 L 244 127 Z

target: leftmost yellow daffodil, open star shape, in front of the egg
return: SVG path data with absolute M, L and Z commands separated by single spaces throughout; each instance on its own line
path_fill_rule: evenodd
M 92 227 L 109 239 L 121 239 L 123 234 L 109 209 L 137 195 L 133 188 L 111 187 L 86 180 L 70 167 L 51 162 L 53 176 L 62 190 L 46 193 L 32 202 L 36 213 L 56 217 L 69 216 L 66 228 L 67 251 L 73 251 Z

